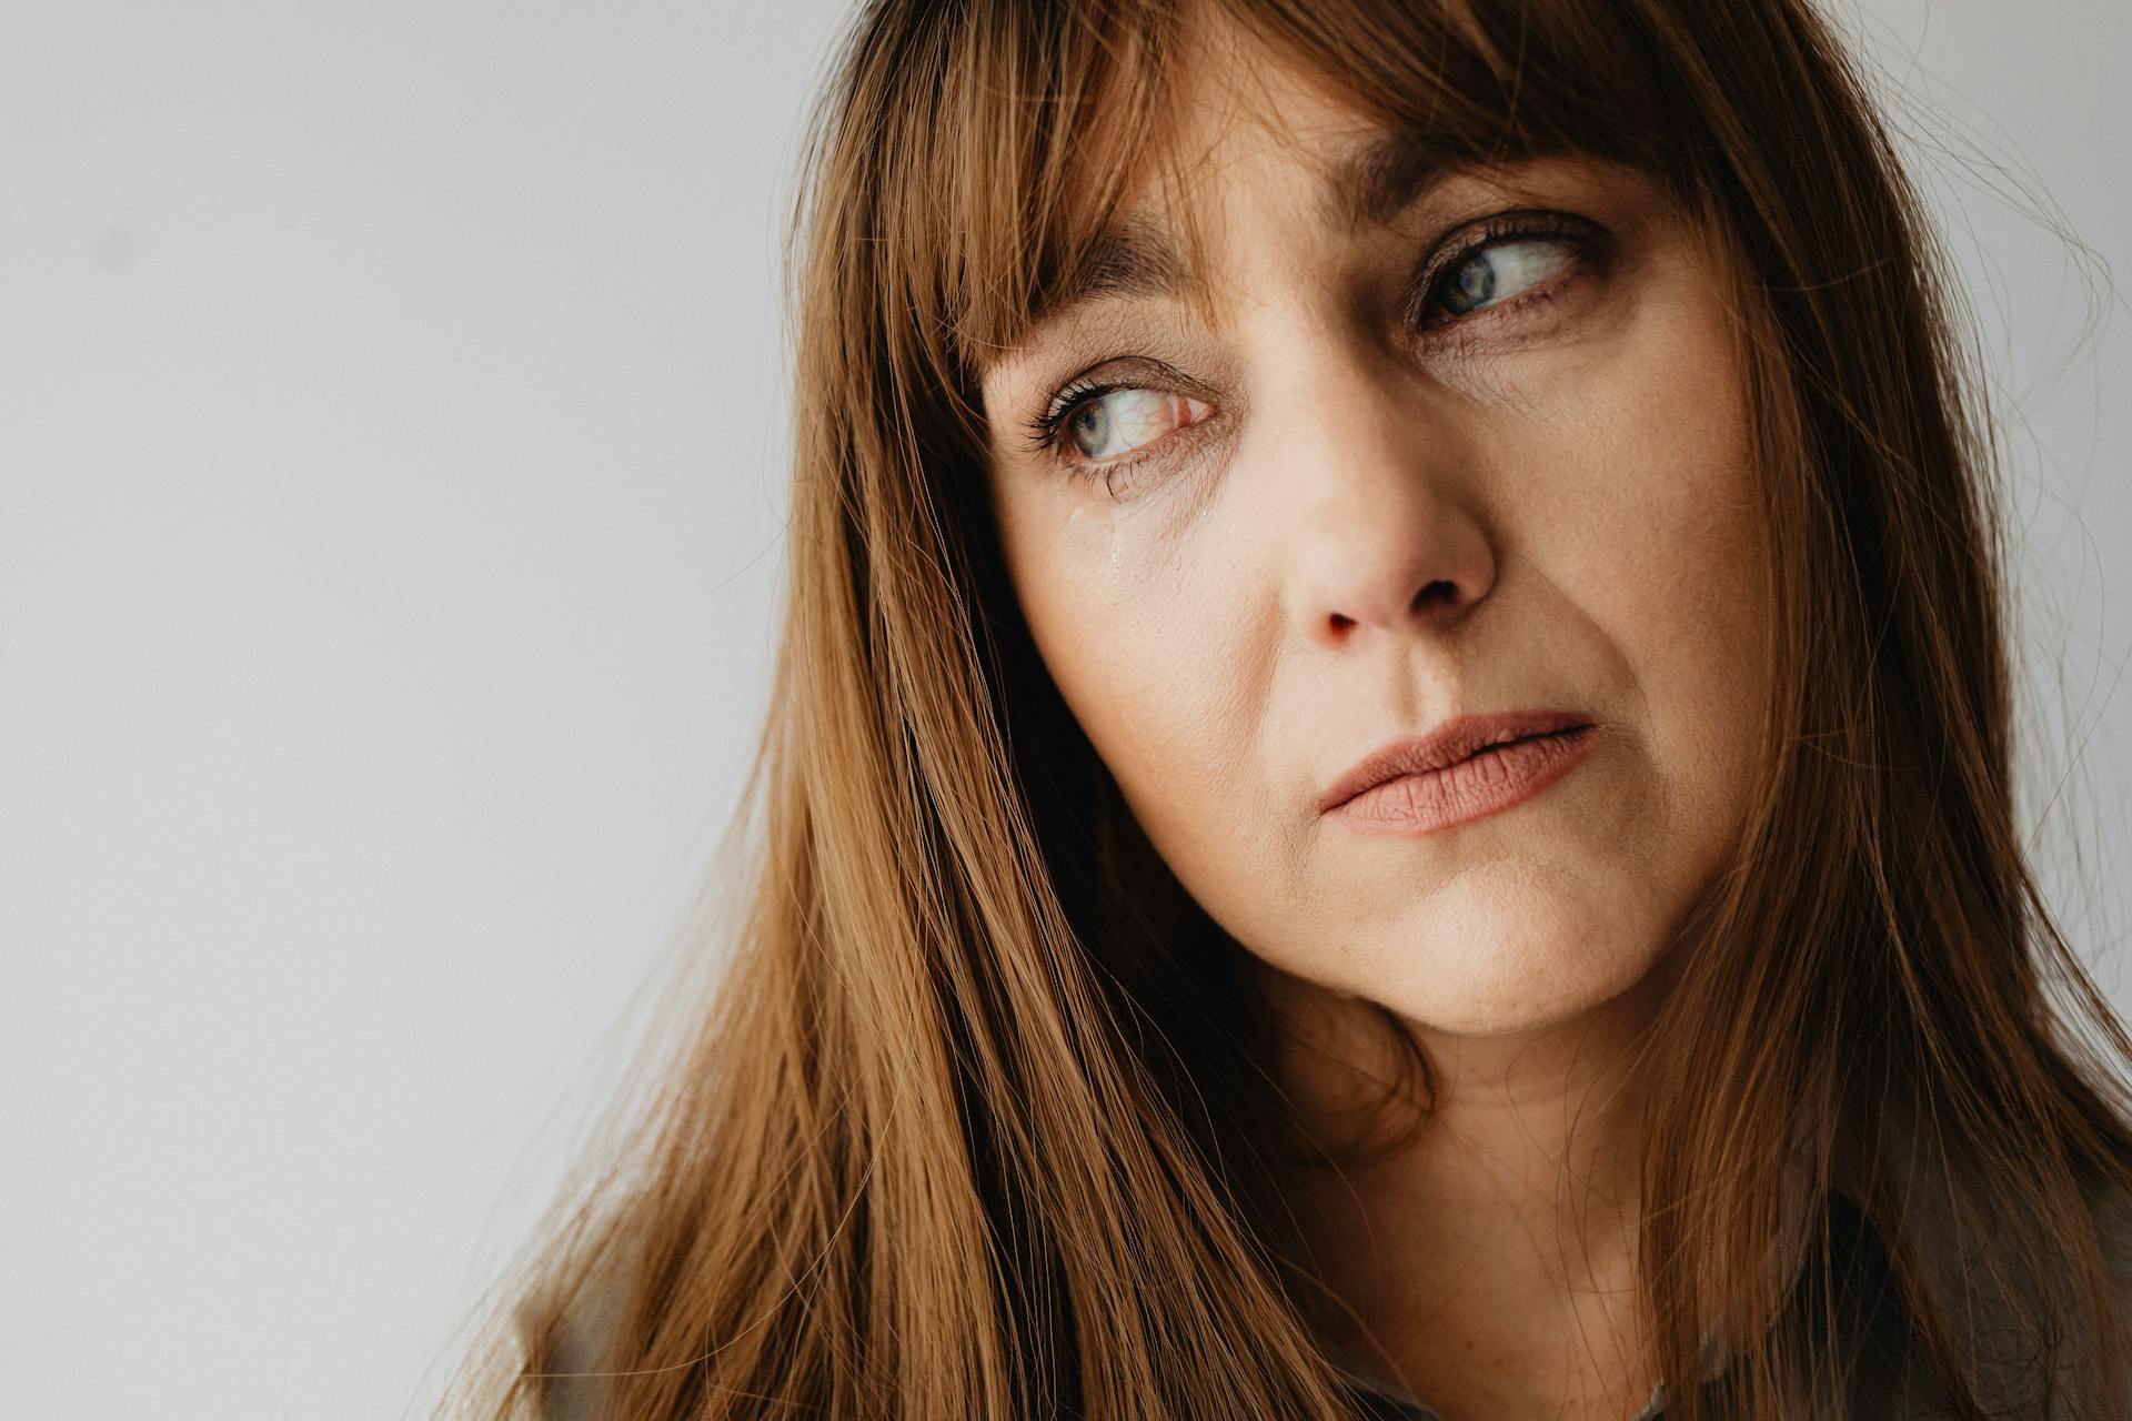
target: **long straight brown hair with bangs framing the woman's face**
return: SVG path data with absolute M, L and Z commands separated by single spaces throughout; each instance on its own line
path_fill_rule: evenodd
M 1669 1417 L 1840 1412 L 1842 1159 L 1957 1415 L 2132 1415 L 2098 1227 L 2132 1195 L 2132 1040 L 2023 863 L 1940 258 L 1804 0 L 866 4 L 795 217 L 789 586 L 727 957 L 452 1415 L 1352 1415 L 1283 1246 L 1243 950 L 1060 703 L 985 501 L 976 356 L 1162 153 L 1211 11 L 1420 158 L 1633 164 L 1727 254 L 1776 695 L 1640 1059 L 1669 1082 L 1640 1287 L 1667 1378 L 1721 1308 L 1772 1321 Z M 1784 1304 L 1757 1289 L 1802 1167 Z

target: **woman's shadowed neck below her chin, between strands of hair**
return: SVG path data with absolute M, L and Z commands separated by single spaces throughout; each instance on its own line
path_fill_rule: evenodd
M 1426 1108 L 1396 1140 L 1371 1133 L 1401 1080 L 1396 1018 L 1266 974 L 1307 1146 L 1347 1150 L 1283 1176 L 1330 1293 L 1328 1351 L 1450 1417 L 1635 1412 L 1654 1381 L 1635 1295 L 1642 1112 L 1629 1072 L 1648 989 L 1488 1038 L 1401 1020 L 1431 1091 L 1394 1099 L 1394 1123 Z

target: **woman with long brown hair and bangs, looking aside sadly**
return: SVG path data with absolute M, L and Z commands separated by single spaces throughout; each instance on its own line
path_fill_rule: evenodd
M 733 957 L 486 1415 L 2132 1415 L 1987 439 L 1799 0 L 876 0 Z

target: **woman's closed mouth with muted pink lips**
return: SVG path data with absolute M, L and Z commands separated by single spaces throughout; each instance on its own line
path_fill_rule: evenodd
M 1318 810 L 1358 827 L 1448 829 L 1539 795 L 1597 739 L 1599 724 L 1576 712 L 1458 716 L 1371 752 L 1326 788 Z

